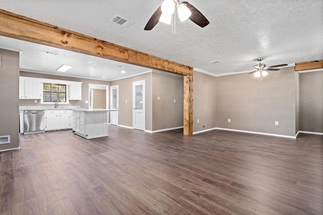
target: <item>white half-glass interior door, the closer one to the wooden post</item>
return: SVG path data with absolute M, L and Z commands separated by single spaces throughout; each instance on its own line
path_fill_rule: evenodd
M 133 82 L 133 128 L 145 130 L 145 81 Z

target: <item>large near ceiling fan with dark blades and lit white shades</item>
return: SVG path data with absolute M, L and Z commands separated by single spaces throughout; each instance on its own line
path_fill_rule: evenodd
M 152 14 L 144 30 L 151 30 L 158 22 L 171 24 L 172 15 L 177 8 L 177 13 L 180 21 L 183 22 L 186 19 L 190 19 L 196 25 L 204 28 L 209 24 L 209 21 L 204 15 L 199 12 L 194 6 L 188 2 L 180 2 L 178 0 L 164 0 L 163 4 Z

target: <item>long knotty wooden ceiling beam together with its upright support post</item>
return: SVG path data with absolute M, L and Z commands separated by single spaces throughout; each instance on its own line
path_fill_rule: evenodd
M 193 67 L 0 9 L 0 35 L 184 76 L 184 135 L 193 134 Z M 187 77 L 187 78 L 185 78 Z

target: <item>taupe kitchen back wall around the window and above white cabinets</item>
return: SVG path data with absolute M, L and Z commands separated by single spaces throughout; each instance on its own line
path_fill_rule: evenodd
M 89 101 L 89 84 L 98 84 L 98 85 L 109 85 L 110 82 L 107 81 L 99 81 L 99 80 L 92 80 L 92 79 L 82 79 L 82 78 L 73 78 L 73 77 L 66 77 L 66 76 L 53 76 L 53 75 L 45 75 L 40 73 L 29 73 L 26 71 L 20 71 L 20 76 L 23 77 L 34 77 L 34 78 L 42 78 L 42 79 L 55 79 L 55 80 L 66 80 L 66 81 L 74 81 L 74 82 L 83 82 L 82 83 L 82 100 L 71 100 L 69 105 L 79 105 L 82 108 L 88 108 L 89 104 L 85 103 L 85 101 Z M 19 95 L 18 97 L 19 98 Z M 34 99 L 20 99 L 19 105 L 21 106 L 33 106 L 33 105 L 46 105 L 46 104 L 39 104 L 34 103 Z M 68 106 L 68 105 L 64 105 Z

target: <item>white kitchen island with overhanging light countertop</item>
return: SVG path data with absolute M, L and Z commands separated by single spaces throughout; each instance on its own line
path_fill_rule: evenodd
M 74 109 L 73 131 L 86 139 L 107 136 L 107 112 L 109 109 Z

